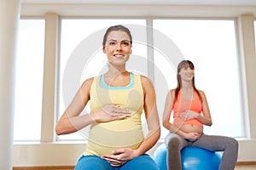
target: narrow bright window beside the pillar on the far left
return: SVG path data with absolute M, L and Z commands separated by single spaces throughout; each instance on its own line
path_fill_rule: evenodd
M 20 20 L 15 77 L 15 141 L 41 137 L 44 20 Z

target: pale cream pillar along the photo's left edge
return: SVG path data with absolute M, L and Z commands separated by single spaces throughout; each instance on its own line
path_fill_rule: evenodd
M 14 130 L 15 59 L 20 1 L 0 6 L 0 169 L 11 169 Z

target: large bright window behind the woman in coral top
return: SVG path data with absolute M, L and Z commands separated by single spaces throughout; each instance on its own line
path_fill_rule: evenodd
M 155 71 L 160 72 L 155 82 L 164 87 L 156 84 L 157 94 L 165 91 L 158 98 L 160 116 L 167 90 L 177 86 L 177 60 L 189 59 L 195 64 L 195 85 L 207 95 L 212 114 L 212 127 L 205 128 L 205 133 L 244 135 L 234 25 L 234 20 L 154 20 L 156 32 L 170 38 L 162 44 L 172 50 L 154 50 Z M 157 41 L 154 35 L 154 45 L 160 43 Z

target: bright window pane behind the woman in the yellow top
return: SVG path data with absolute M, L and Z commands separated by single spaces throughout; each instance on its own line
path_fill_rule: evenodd
M 60 80 L 59 80 L 59 119 L 66 110 L 79 86 L 86 78 L 95 77 L 106 71 L 107 57 L 102 53 L 102 40 L 108 26 L 123 24 L 129 27 L 134 38 L 132 43 L 132 55 L 130 69 L 135 72 L 147 74 L 147 67 L 141 67 L 135 59 L 145 61 L 147 58 L 145 20 L 61 20 L 61 56 L 60 56 Z M 143 33 L 142 33 L 143 32 Z M 138 38 L 135 39 L 135 38 Z M 128 65 L 129 66 L 129 65 Z M 127 68 L 130 70 L 129 68 Z M 87 104 L 83 113 L 90 112 L 90 104 Z M 57 140 L 78 140 L 86 138 L 87 129 L 79 133 L 71 133 L 57 137 Z

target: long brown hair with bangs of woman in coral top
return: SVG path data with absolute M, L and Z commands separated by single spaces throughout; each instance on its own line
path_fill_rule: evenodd
M 177 94 L 180 91 L 180 89 L 182 88 L 182 81 L 181 81 L 181 77 L 179 75 L 179 72 L 183 69 L 183 68 L 187 68 L 189 67 L 191 70 L 195 70 L 195 66 L 194 64 L 189 61 L 189 60 L 182 60 L 178 65 L 177 65 L 177 88 L 175 88 L 175 99 L 174 101 L 177 99 Z M 200 99 L 201 99 L 201 95 L 199 94 L 197 88 L 195 88 L 195 75 L 192 79 L 192 86 L 195 90 L 195 92 L 199 95 Z

